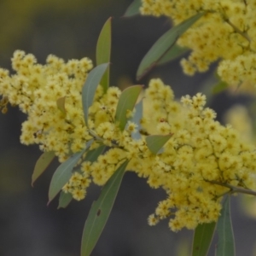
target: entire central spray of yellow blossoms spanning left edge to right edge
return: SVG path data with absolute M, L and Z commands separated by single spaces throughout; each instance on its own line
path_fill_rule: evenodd
M 170 218 L 170 228 L 177 231 L 216 221 L 221 199 L 232 186 L 255 189 L 255 148 L 242 143 L 232 127 L 215 120 L 216 113 L 205 108 L 206 96 L 201 93 L 176 102 L 170 86 L 152 79 L 143 97 L 140 124 L 128 112 L 130 120 L 122 131 L 115 122 L 121 92 L 110 87 L 103 93 L 99 85 L 86 126 L 81 90 L 90 60 L 65 63 L 50 55 L 42 66 L 33 55 L 16 51 L 12 61 L 16 74 L 0 70 L 0 93 L 4 108 L 10 102 L 28 116 L 21 143 L 38 143 L 61 161 L 90 140 L 90 150 L 102 147 L 96 161 L 86 160 L 84 154 L 63 187 L 74 199 L 83 199 L 91 182 L 104 185 L 124 160 L 130 160 L 128 170 L 147 178 L 151 188 L 166 190 L 166 200 L 160 201 L 148 223 Z M 147 146 L 148 135 L 172 137 L 162 152 L 154 154 Z

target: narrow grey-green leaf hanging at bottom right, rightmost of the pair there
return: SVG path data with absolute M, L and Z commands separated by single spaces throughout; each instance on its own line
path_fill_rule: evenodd
M 230 215 L 230 196 L 224 199 L 221 216 L 218 218 L 217 256 L 235 256 L 235 241 Z

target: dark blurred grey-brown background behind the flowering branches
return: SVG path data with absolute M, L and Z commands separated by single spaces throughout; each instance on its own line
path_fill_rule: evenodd
M 112 16 L 111 84 L 120 87 L 137 84 L 139 62 L 170 28 L 170 21 L 140 16 L 121 18 L 130 3 L 129 0 L 1 0 L 0 66 L 10 69 L 15 49 L 36 55 L 41 63 L 49 54 L 65 61 L 87 56 L 95 62 L 97 37 L 104 22 Z M 211 96 L 212 85 L 217 83 L 214 67 L 190 78 L 183 75 L 178 60 L 172 61 L 155 68 L 139 83 L 148 84 L 153 77 L 172 85 L 177 97 L 199 90 L 207 93 L 220 121 L 234 104 L 248 105 L 254 99 L 252 95 L 230 96 L 227 92 Z M 255 111 L 252 113 L 255 115 Z M 49 166 L 32 188 L 32 170 L 40 151 L 37 146 L 20 145 L 20 125 L 25 119 L 17 108 L 9 108 L 7 114 L 0 115 L 0 255 L 79 255 L 84 221 L 100 189 L 90 188 L 84 201 L 73 201 L 65 210 L 56 210 L 57 201 L 47 207 L 49 181 L 58 163 Z M 146 181 L 134 173 L 125 174 L 111 217 L 92 255 L 188 255 L 191 231 L 174 234 L 168 230 L 167 221 L 155 227 L 147 224 L 148 215 L 164 198 L 161 189 L 149 189 Z M 245 214 L 242 209 L 234 199 L 237 255 L 255 255 L 255 214 L 242 218 Z M 249 212 L 252 211 L 255 212 L 254 208 Z M 215 243 L 216 238 L 212 250 Z

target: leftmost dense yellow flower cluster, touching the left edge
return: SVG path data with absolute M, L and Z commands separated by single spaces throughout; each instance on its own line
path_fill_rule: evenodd
M 0 69 L 0 94 L 27 114 L 21 143 L 40 144 L 42 150 L 55 151 L 63 161 L 90 139 L 84 126 L 81 90 L 92 63 L 87 58 L 65 63 L 55 55 L 49 55 L 46 62 L 40 65 L 34 55 L 16 50 L 12 58 L 16 73 L 9 76 L 7 70 Z M 66 113 L 56 103 L 62 97 Z

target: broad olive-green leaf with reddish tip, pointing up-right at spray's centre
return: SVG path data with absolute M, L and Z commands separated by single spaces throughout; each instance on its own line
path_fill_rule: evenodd
M 142 85 L 134 85 L 123 90 L 121 96 L 119 97 L 119 102 L 116 108 L 115 120 L 119 123 L 119 128 L 121 131 L 125 129 L 127 123 L 127 111 L 132 111 L 137 98 L 143 90 Z

